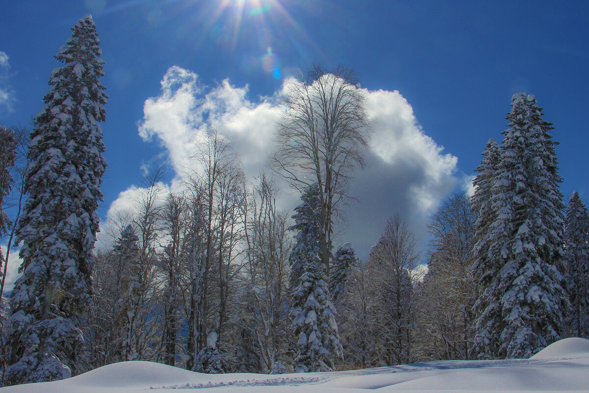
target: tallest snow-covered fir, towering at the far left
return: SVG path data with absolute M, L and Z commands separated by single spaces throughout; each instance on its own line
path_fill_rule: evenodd
M 35 117 L 27 174 L 29 197 L 18 223 L 23 272 L 11 293 L 8 384 L 75 374 L 81 316 L 90 303 L 92 249 L 106 161 L 102 130 L 107 95 L 94 22 L 84 16 L 55 55 L 65 64 Z

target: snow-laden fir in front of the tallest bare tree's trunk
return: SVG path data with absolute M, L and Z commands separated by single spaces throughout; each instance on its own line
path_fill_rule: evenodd
M 293 281 L 298 283 L 292 296 L 294 335 L 298 338 L 296 372 L 332 371 L 342 357 L 337 332 L 336 309 L 329 296 L 327 276 L 320 259 L 320 204 L 316 184 L 305 187 L 302 204 L 296 207 L 291 227 L 298 230 L 290 255 Z M 302 272 L 302 273 L 299 273 Z

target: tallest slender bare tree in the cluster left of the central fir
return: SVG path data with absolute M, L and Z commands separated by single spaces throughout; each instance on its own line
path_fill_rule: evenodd
M 223 134 L 213 130 L 196 147 L 198 152 L 193 157 L 196 170 L 190 176 L 189 186 L 201 199 L 194 212 L 197 214 L 194 224 L 200 228 L 201 237 L 193 243 L 202 250 L 193 258 L 193 289 L 198 291 L 198 303 L 194 305 L 196 319 L 190 351 L 202 352 L 210 343 L 207 338 L 211 334 L 216 338 L 215 345 L 222 350 L 224 333 L 233 323 L 229 315 L 236 306 L 231 297 L 235 291 L 233 282 L 239 273 L 237 246 L 243 237 L 246 198 L 239 156 Z

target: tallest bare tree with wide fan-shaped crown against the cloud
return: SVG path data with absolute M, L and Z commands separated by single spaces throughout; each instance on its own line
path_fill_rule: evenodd
M 364 95 L 349 68 L 313 65 L 292 81 L 270 166 L 294 189 L 317 183 L 321 203 L 321 262 L 329 276 L 334 221 L 355 166 L 368 146 Z

